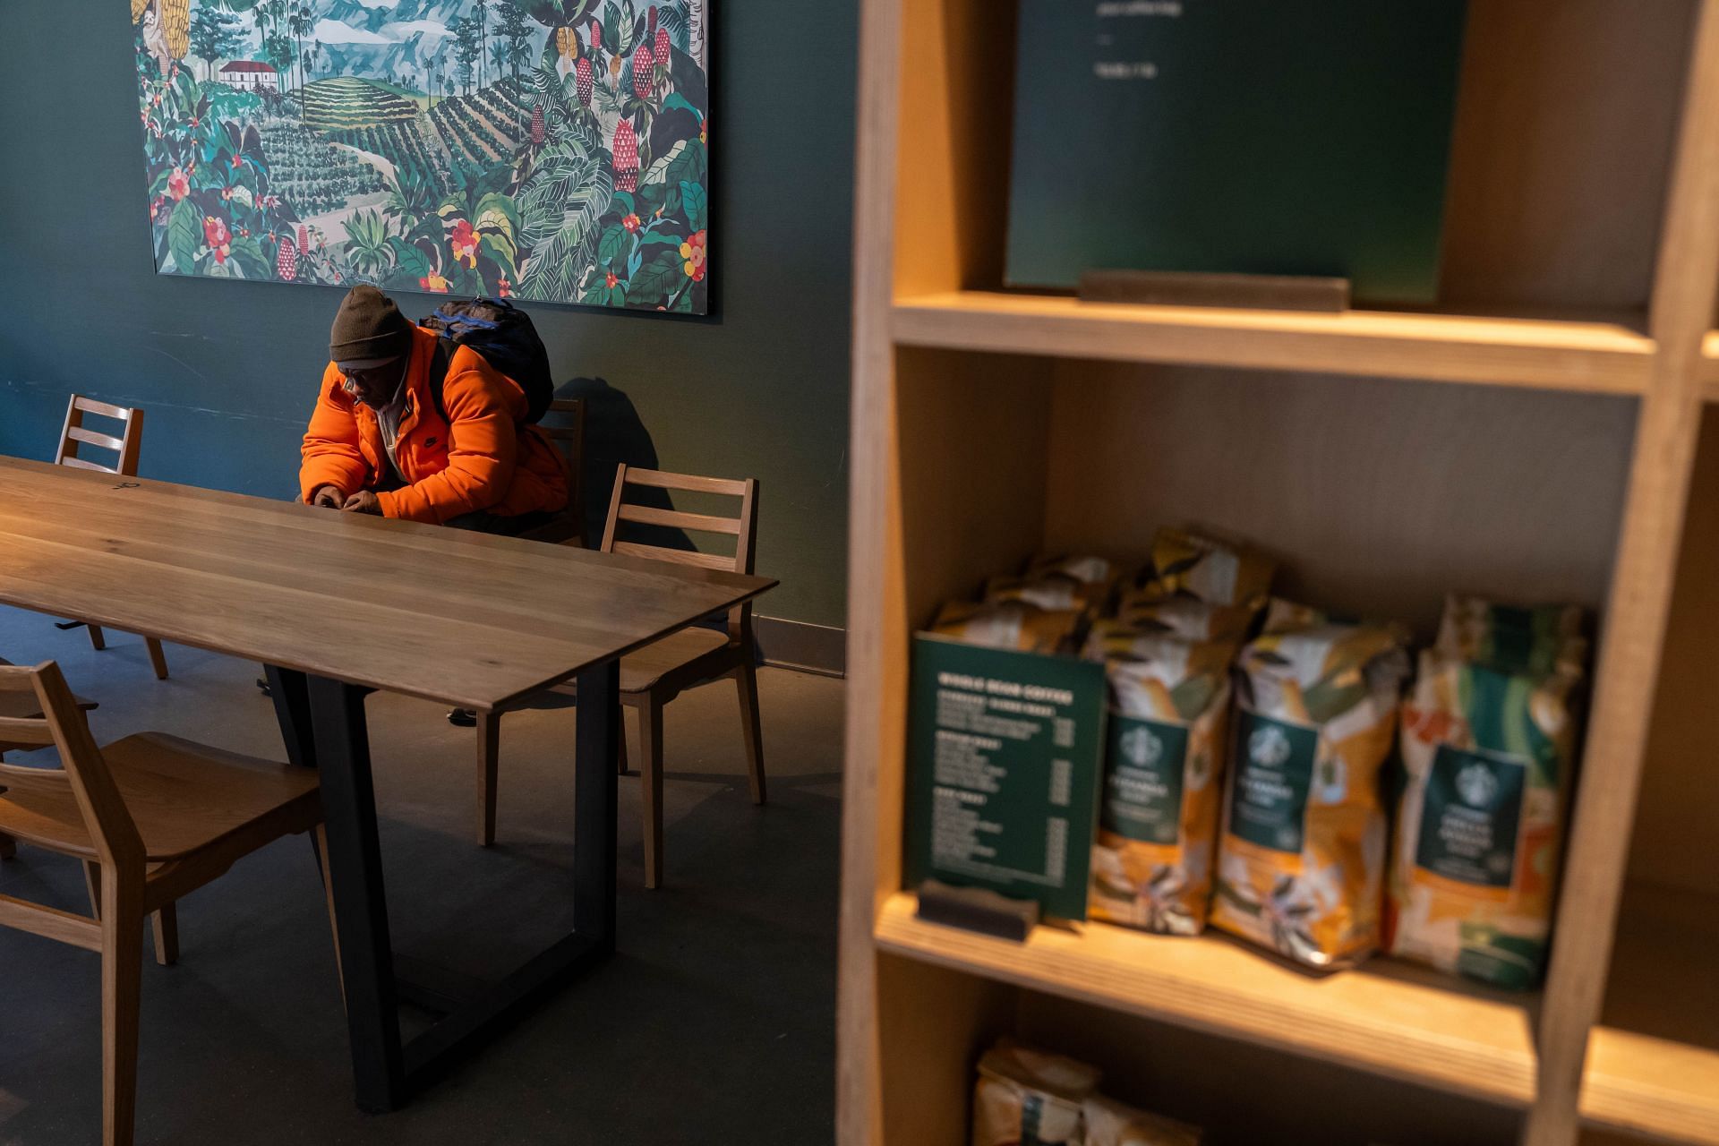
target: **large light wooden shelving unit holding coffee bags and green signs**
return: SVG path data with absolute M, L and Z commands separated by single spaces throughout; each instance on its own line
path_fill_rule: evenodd
M 1234 1112 L 1215 1146 L 1308 1141 L 1300 1094 L 1329 1143 L 1719 1143 L 1719 936 L 1690 923 L 1719 917 L 1719 0 L 1475 0 L 1441 306 L 1341 316 L 1002 290 L 1002 9 L 861 3 L 841 1146 L 964 1141 L 1004 1031 Z M 915 917 L 911 632 L 1033 552 L 1138 558 L 1178 521 L 1423 634 L 1456 588 L 1602 617 L 1542 991 Z

